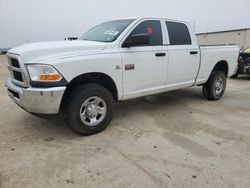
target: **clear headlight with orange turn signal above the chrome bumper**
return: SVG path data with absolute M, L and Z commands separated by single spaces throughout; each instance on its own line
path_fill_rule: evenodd
M 62 75 L 50 65 L 27 65 L 30 80 L 34 82 L 59 82 Z

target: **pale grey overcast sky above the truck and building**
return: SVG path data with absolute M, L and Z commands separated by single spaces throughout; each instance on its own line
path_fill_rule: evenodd
M 196 32 L 250 27 L 250 0 L 0 0 L 0 48 L 79 36 L 109 19 L 154 16 Z

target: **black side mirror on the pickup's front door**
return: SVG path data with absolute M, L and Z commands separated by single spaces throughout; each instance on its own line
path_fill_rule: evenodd
M 143 34 L 135 34 L 126 39 L 123 43 L 122 47 L 129 48 L 133 46 L 145 46 L 149 45 L 150 43 L 150 36 L 147 33 Z

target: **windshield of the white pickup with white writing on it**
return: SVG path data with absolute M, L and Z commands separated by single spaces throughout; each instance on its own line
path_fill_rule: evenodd
M 128 19 L 102 23 L 89 30 L 80 39 L 97 42 L 113 42 L 133 21 L 133 19 Z

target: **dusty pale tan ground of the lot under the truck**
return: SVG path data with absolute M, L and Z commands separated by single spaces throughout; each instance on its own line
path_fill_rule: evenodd
M 111 125 L 81 137 L 8 97 L 0 56 L 0 187 L 249 187 L 250 77 L 224 98 L 201 88 L 116 105 Z

